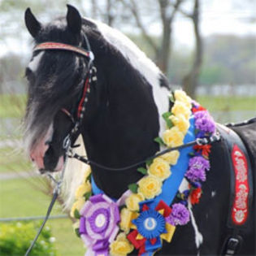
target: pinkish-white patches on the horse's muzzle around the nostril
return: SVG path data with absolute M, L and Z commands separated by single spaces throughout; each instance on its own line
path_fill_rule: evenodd
M 47 141 L 52 140 L 53 133 L 54 133 L 53 124 L 50 124 L 50 127 L 48 128 L 45 137 L 42 137 L 41 140 L 37 142 L 37 145 L 34 145 L 30 150 L 30 158 L 36 164 L 39 170 L 45 169 L 44 156 L 46 154 L 46 151 L 49 149 L 49 145 L 47 144 Z M 61 171 L 63 168 L 63 164 L 64 164 L 64 158 L 63 156 L 61 156 L 59 158 L 59 161 L 54 171 Z

